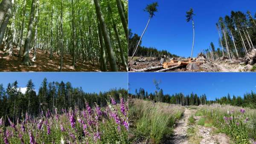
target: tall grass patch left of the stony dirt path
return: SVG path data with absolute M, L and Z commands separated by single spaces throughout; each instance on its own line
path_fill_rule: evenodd
M 183 111 L 183 107 L 171 104 L 129 101 L 129 142 L 161 143 L 166 135 L 172 134 L 173 125 Z

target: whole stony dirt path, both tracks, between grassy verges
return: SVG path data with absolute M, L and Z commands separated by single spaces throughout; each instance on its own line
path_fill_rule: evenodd
M 166 144 L 232 144 L 230 138 L 221 132 L 215 132 L 216 128 L 197 125 L 202 116 L 193 116 L 195 124 L 189 124 L 189 117 L 195 114 L 195 109 L 185 108 L 183 117 L 177 121 L 173 130 L 174 134 L 170 141 Z M 193 132 L 191 134 L 191 127 Z

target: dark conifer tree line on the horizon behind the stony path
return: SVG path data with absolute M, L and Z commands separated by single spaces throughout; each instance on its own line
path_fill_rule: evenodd
M 148 101 L 157 101 L 169 104 L 179 104 L 181 106 L 190 105 L 205 105 L 205 104 L 230 104 L 239 107 L 250 107 L 256 108 L 256 92 L 251 91 L 250 93 L 245 93 L 243 97 L 241 96 L 222 96 L 220 98 L 215 98 L 215 100 L 208 100 L 207 95 L 197 95 L 196 93 L 191 93 L 190 95 L 184 95 L 182 92 L 175 94 L 164 94 L 163 89 L 155 90 L 155 92 L 148 92 L 143 88 L 135 89 L 134 93 L 129 92 L 130 98 L 137 98 Z

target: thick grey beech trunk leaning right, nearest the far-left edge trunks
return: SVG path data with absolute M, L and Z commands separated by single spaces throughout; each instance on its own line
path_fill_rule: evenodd
M 25 44 L 24 44 L 24 50 L 23 50 L 22 63 L 24 65 L 30 65 L 31 64 L 31 62 L 29 60 L 29 48 L 30 48 L 31 37 L 32 37 L 34 14 L 35 14 L 35 0 L 32 0 L 31 12 L 30 12 L 30 17 L 29 17 L 28 33 L 27 33 L 27 36 L 26 36 L 26 40 L 25 40 Z

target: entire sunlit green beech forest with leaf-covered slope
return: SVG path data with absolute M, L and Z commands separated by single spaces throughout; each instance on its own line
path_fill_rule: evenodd
M 0 71 L 127 71 L 127 0 L 1 0 Z

